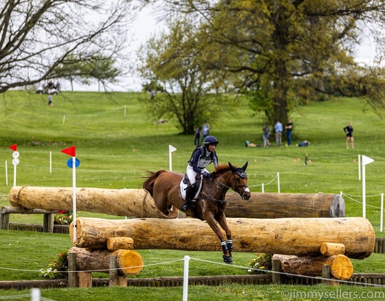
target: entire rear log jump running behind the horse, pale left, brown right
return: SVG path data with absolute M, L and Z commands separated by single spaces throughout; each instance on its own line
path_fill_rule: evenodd
M 345 201 L 339 194 L 277 194 L 252 192 L 249 201 L 238 194 L 226 194 L 227 217 L 344 217 Z M 72 210 L 70 187 L 13 187 L 13 206 L 44 210 Z M 128 217 L 163 217 L 144 190 L 77 188 L 77 210 Z M 172 217 L 178 216 L 174 209 Z

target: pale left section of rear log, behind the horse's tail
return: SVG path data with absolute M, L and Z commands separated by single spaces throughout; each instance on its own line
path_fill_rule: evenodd
M 15 186 L 9 192 L 12 206 L 44 210 L 72 210 L 72 187 Z M 144 190 L 77 188 L 77 210 L 127 217 L 162 217 Z M 178 215 L 178 210 L 175 210 Z M 175 215 L 175 217 L 176 217 Z

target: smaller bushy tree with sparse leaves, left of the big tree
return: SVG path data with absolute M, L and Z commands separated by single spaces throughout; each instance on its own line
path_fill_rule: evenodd
M 194 132 L 203 120 L 213 121 L 226 111 L 226 97 L 217 93 L 221 83 L 217 59 L 210 62 L 205 45 L 200 43 L 198 24 L 187 18 L 171 22 L 169 33 L 148 40 L 139 49 L 139 71 L 151 86 L 161 91 L 146 102 L 148 112 L 157 119 L 173 118 L 185 134 Z

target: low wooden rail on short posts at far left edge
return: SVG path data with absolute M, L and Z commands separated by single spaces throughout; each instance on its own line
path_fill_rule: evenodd
M 56 210 L 25 209 L 22 207 L 3 206 L 0 210 L 0 229 L 9 230 L 9 220 L 11 214 L 42 214 L 42 231 L 46 233 L 54 232 L 54 214 Z

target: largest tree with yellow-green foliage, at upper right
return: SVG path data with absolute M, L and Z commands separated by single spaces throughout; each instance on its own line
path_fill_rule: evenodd
M 237 88 L 253 96 L 270 122 L 285 120 L 301 97 L 319 93 L 364 96 L 372 107 L 385 107 L 384 70 L 360 68 L 352 56 L 368 24 L 384 46 L 383 0 L 166 2 L 171 12 L 206 20 L 204 40 L 229 54 L 222 70 L 237 74 Z

